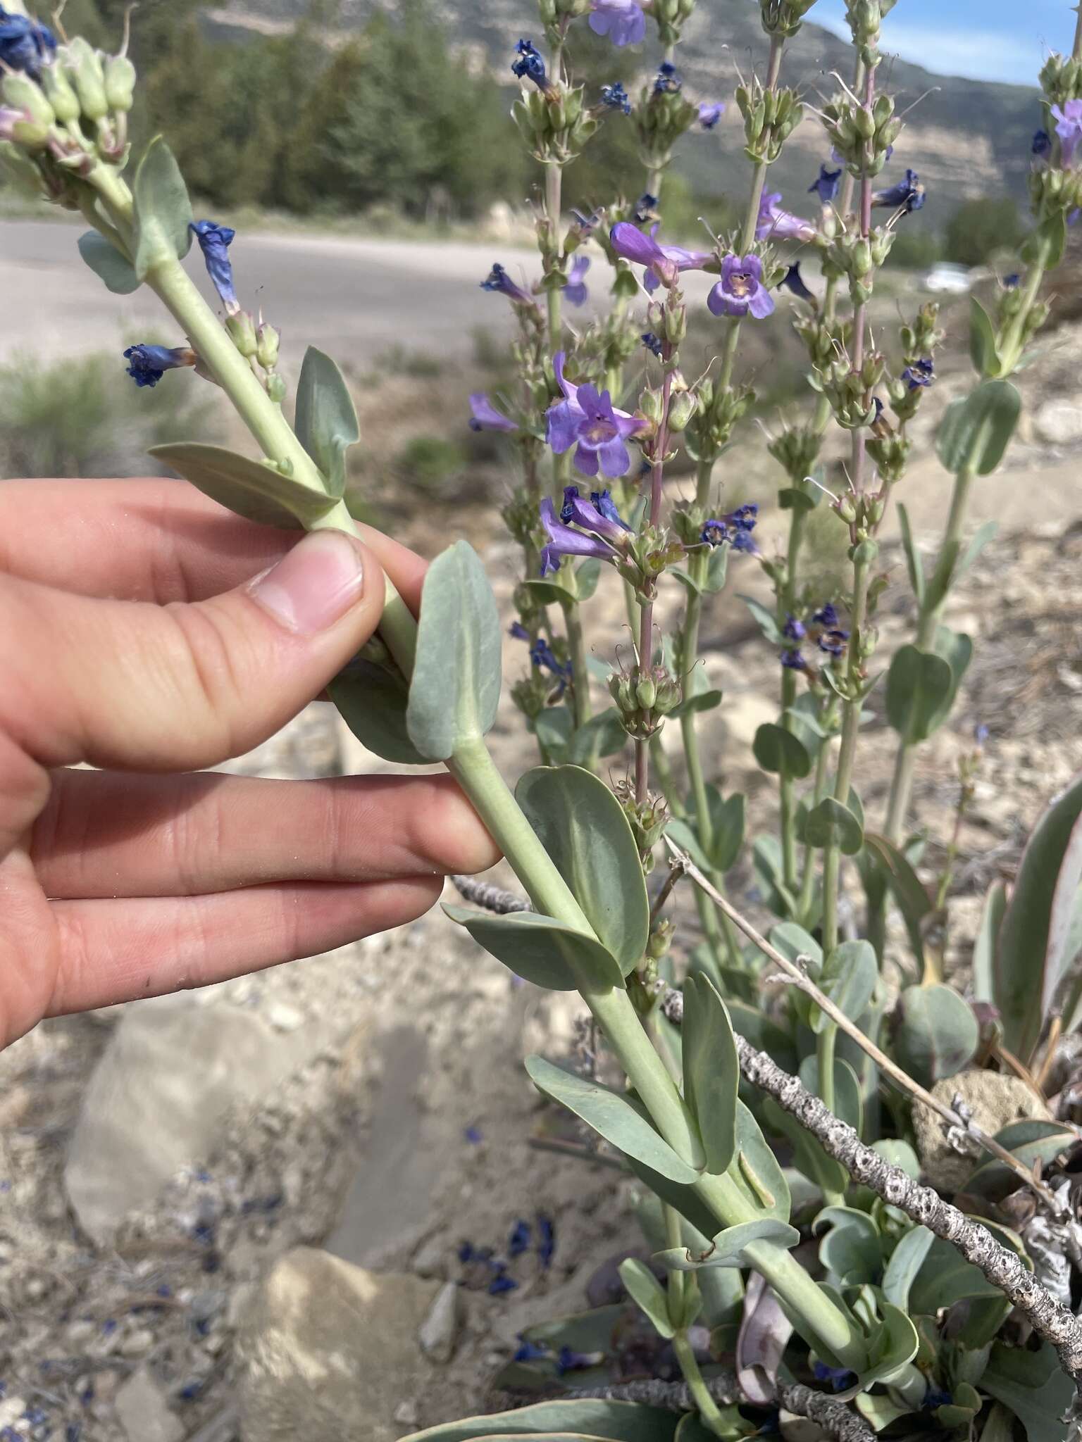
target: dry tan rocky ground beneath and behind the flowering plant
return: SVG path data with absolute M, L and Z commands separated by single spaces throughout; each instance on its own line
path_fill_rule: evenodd
M 977 656 L 918 770 L 929 875 L 954 823 L 956 760 L 977 724 L 990 731 L 959 836 L 948 953 L 958 968 L 988 881 L 1011 874 L 1042 805 L 1082 766 L 1079 350 L 1082 332 L 1060 332 L 1040 373 L 1023 375 L 1034 418 L 988 483 L 1011 526 L 946 616 Z M 939 407 L 958 384 L 946 376 Z M 929 542 L 945 502 L 933 503 L 932 483 L 929 467 L 918 508 Z M 454 525 L 485 552 L 506 607 L 509 548 L 480 510 Z M 763 534 L 780 526 L 767 519 Z M 434 551 L 446 518 L 427 515 L 414 539 Z M 824 574 L 835 558 L 825 539 L 812 557 Z M 757 584 L 742 564 L 730 591 Z M 886 660 L 910 634 L 910 606 L 896 544 L 884 565 Z M 599 601 L 612 627 L 619 604 L 616 587 Z M 594 626 L 607 656 L 603 634 Z M 714 603 L 704 636 L 726 692 L 707 718 L 708 756 L 727 790 L 747 790 L 756 833 L 775 815 L 750 741 L 775 715 L 776 658 L 733 594 Z M 506 645 L 515 676 L 522 649 Z M 508 702 L 493 741 L 508 774 L 529 764 Z M 858 758 L 873 823 L 892 760 L 873 695 Z M 381 766 L 320 707 L 235 763 L 268 776 Z M 750 867 L 731 881 L 755 910 Z M 512 985 L 430 914 L 203 992 L 58 1019 L 10 1047 L 0 1439 L 390 1442 L 483 1407 L 515 1335 L 584 1306 L 597 1266 L 638 1240 L 626 1184 L 560 1151 L 521 1067 L 527 1051 L 580 1048 L 580 1022 L 574 998 Z M 492 1249 L 499 1265 L 462 1262 L 463 1244 Z

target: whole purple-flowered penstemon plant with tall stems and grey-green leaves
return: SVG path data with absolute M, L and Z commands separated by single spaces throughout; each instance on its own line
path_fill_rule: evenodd
M 695 0 L 541 0 L 545 53 L 522 39 L 514 59 L 522 87 L 514 120 L 544 174 L 541 280 L 527 288 L 496 264 L 483 281 L 514 310 L 516 373 L 508 394 L 470 399 L 473 424 L 505 433 L 516 454 L 519 485 L 505 512 L 524 561 L 512 633 L 528 645 L 532 668 L 514 696 L 542 764 L 512 793 L 488 751 L 501 622 L 465 542 L 433 561 L 420 620 L 388 583 L 378 642 L 330 688 L 377 754 L 446 763 L 503 849 L 528 901 L 463 881 L 460 890 L 488 908 L 444 910 L 516 975 L 581 995 L 617 1080 L 603 1084 L 541 1057 L 527 1069 L 544 1096 L 596 1133 L 604 1156 L 638 1178 L 654 1249 L 652 1266 L 629 1260 L 620 1269 L 654 1343 L 639 1330 L 630 1358 L 630 1334 L 613 1308 L 547 1324 L 524 1334 L 498 1381 L 548 1400 L 437 1426 L 426 1438 L 772 1436 L 782 1407 L 828 1436 L 864 1442 L 877 1432 L 959 1442 L 1052 1442 L 1065 1428 L 1076 1432 L 1062 1419 L 1082 1377 L 1082 1327 L 1069 1293 L 1046 1285 L 1047 1273 L 1034 1275 L 1026 1239 L 1008 1224 L 1021 1211 L 1006 1220 L 995 1211 L 1021 1182 L 1044 1239 L 1076 1253 L 1063 1194 L 1042 1171 L 1076 1133 L 1042 1122 L 990 1138 L 961 1099 L 948 1102 L 949 1087 L 926 1089 L 967 1067 L 978 1045 L 1030 1079 L 1032 1069 L 1043 1074 L 1059 1035 L 1082 1019 L 1072 926 L 1082 782 L 1040 819 L 1013 888 L 997 884 L 988 894 L 974 998 L 998 1019 L 984 1032 L 944 976 L 949 864 L 926 887 L 922 838 L 907 835 L 906 823 L 916 750 L 948 718 L 972 652 L 969 637 L 942 622 L 952 585 L 987 539 L 985 528 L 967 544 L 967 502 L 1014 431 L 1020 401 L 1008 376 L 1046 319 L 1042 283 L 1082 205 L 1082 20 L 1073 55 L 1053 55 L 1042 74 L 1046 125 L 1033 146 L 1036 224 L 1024 270 L 1003 283 L 993 311 L 972 303 L 977 384 L 948 407 L 938 431 L 954 495 L 931 572 L 899 505 L 918 627 L 880 685 L 899 741 L 886 820 L 873 832 L 856 779 L 861 717 L 880 682 L 876 611 L 887 581 L 877 570 L 879 535 L 905 479 L 907 425 L 935 381 L 942 335 L 935 306 L 906 320 L 884 352 L 868 323 L 897 228 L 923 203 L 912 170 L 883 177 L 903 136 L 880 84 L 880 22 L 893 0 L 848 0 L 853 74 L 834 76 L 835 94 L 815 111 L 782 81 L 786 40 L 811 4 L 760 0 L 766 68 L 736 91 L 750 163 L 746 211 L 731 234 L 692 251 L 661 238 L 659 226 L 677 143 L 694 125 L 713 130 L 724 108 L 684 91 L 678 46 Z M 617 82 L 597 97 L 573 82 L 583 25 L 616 46 L 656 33 L 656 65 L 635 97 Z M 102 55 L 79 37 L 58 39 L 7 0 L 0 62 L 6 170 L 81 212 L 89 268 L 117 294 L 147 286 L 183 337 L 173 348 L 130 348 L 134 384 L 195 369 L 228 395 L 260 453 L 177 441 L 154 454 L 252 522 L 353 531 L 343 495 L 359 431 L 345 381 L 309 349 L 290 424 L 277 332 L 252 319 L 237 293 L 234 232 L 195 219 L 162 138 L 126 180 L 137 78 L 124 50 Z M 811 186 L 818 211 L 809 219 L 769 189 L 770 166 L 805 121 L 822 127 L 831 157 Z M 635 127 L 645 189 L 567 219 L 564 169 L 602 124 Z M 193 241 L 221 316 L 182 264 Z M 821 294 L 791 258 L 793 245 L 818 257 Z M 586 300 L 599 254 L 612 275 L 612 307 L 573 327 L 568 307 Z M 681 369 L 688 271 L 714 278 L 707 307 L 717 353 L 694 379 Z M 802 424 L 769 438 L 788 521 L 788 536 L 769 555 L 757 539 L 757 508 L 739 495 L 723 500 L 721 487 L 726 448 L 753 404 L 740 379 L 742 336 L 780 323 L 780 288 L 793 297 L 814 399 Z M 819 466 L 831 427 L 847 433 L 837 493 Z M 671 505 L 665 473 L 681 447 L 694 496 Z M 834 594 L 817 593 L 802 568 L 818 506 L 847 541 L 848 568 Z M 703 681 L 700 623 L 726 585 L 730 558 L 759 564 L 773 591 L 773 606 L 749 603 L 780 673 L 778 720 L 755 738 L 756 760 L 778 782 L 776 835 L 753 848 L 772 913 L 767 936 L 726 894 L 744 845 L 744 799 L 723 796 L 707 779 L 701 747 L 721 695 Z M 586 630 L 590 601 L 613 571 L 633 637 L 619 665 L 589 656 Z M 656 603 L 669 593 L 682 594 L 684 609 L 667 634 Z M 599 709 L 594 671 L 609 694 Z M 674 724 L 687 789 L 659 746 Z M 610 787 L 600 763 L 616 764 L 628 744 L 633 757 Z M 980 748 L 964 761 L 959 805 L 978 763 Z M 671 859 L 651 897 L 659 857 Z M 845 858 L 867 893 L 864 937 L 841 933 Z M 667 913 L 682 878 L 694 884 L 703 933 L 687 955 Z M 920 972 L 900 996 L 883 970 L 892 906 Z M 782 1005 L 763 1001 L 767 966 L 792 982 Z M 913 1097 L 972 1149 L 964 1191 L 982 1204 L 982 1220 L 919 1184 Z M 779 1164 L 779 1144 L 792 1167 Z M 809 1201 L 811 1233 L 821 1240 L 815 1256 L 798 1256 L 793 1216 Z M 681 1383 L 662 1374 L 665 1348 Z M 721 1366 L 730 1357 L 736 1370 Z

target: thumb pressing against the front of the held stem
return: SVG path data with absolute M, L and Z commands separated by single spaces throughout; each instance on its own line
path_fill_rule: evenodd
M 368 640 L 382 606 L 379 562 L 340 531 L 190 604 L 0 577 L 0 857 L 48 795 L 49 767 L 182 771 L 258 746 Z

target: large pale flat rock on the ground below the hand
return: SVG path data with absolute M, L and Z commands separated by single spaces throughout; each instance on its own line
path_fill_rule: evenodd
M 68 1151 L 63 1180 L 84 1230 L 108 1246 L 128 1211 L 211 1154 L 225 1112 L 263 1100 L 307 1045 L 303 1032 L 284 1040 L 250 1012 L 190 995 L 128 1007 Z

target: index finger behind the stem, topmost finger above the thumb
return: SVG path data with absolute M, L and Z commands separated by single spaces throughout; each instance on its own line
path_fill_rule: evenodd
M 374 526 L 358 529 L 417 614 L 426 562 Z M 0 480 L 0 571 L 79 596 L 205 601 L 274 565 L 297 538 L 186 480 Z

